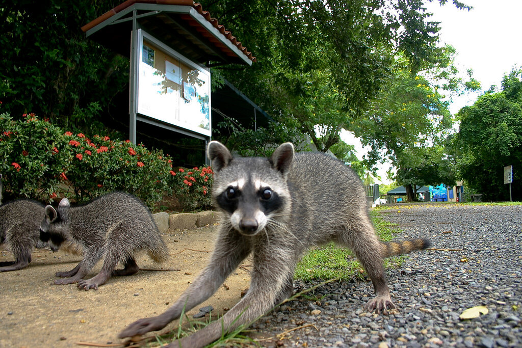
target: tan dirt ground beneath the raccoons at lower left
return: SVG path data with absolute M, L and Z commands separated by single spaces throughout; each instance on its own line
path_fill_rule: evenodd
M 0 273 L 0 348 L 4 347 L 79 347 L 78 342 L 120 343 L 117 334 L 129 323 L 162 313 L 170 307 L 206 265 L 215 226 L 189 231 L 168 231 L 163 235 L 171 258 L 157 265 L 139 254 L 136 261 L 142 269 L 129 277 L 113 277 L 97 291 L 78 290 L 76 284 L 53 285 L 54 273 L 73 269 L 80 256 L 63 251 L 35 250 L 25 269 Z M 0 261 L 13 256 L 0 249 Z M 194 250 L 189 250 L 194 249 Z M 248 261 L 246 261 L 248 262 Z M 89 277 L 101 268 L 91 271 Z M 224 313 L 240 299 L 248 287 L 248 271 L 238 268 L 219 290 L 187 314 L 212 306 L 213 313 Z M 180 270 L 180 271 L 176 271 Z M 160 332 L 177 328 L 173 321 Z

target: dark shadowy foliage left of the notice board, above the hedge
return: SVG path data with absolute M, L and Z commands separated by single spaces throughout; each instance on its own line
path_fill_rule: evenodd
M 80 30 L 120 4 L 63 0 L 2 2 L 0 100 L 11 115 L 34 112 L 68 128 L 93 127 L 125 92 L 128 60 Z

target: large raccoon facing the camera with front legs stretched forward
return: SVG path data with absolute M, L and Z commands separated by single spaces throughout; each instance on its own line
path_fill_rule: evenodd
M 283 143 L 267 158 L 234 158 L 217 141 L 208 145 L 215 178 L 212 197 L 222 211 L 215 250 L 207 267 L 165 313 L 140 319 L 120 333 L 133 337 L 165 327 L 210 297 L 240 262 L 253 253 L 250 289 L 219 320 L 173 342 L 201 347 L 250 324 L 292 294 L 296 263 L 310 247 L 330 241 L 352 249 L 373 282 L 376 297 L 366 309 L 394 308 L 383 258 L 428 247 L 429 241 L 379 242 L 368 217 L 362 183 L 342 162 L 322 153 L 294 155 Z

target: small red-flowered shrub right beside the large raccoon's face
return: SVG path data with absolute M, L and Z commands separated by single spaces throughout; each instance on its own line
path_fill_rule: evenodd
M 179 168 L 169 173 L 172 176 L 174 193 L 185 208 L 195 209 L 212 205 L 210 187 L 213 172 L 209 166 Z

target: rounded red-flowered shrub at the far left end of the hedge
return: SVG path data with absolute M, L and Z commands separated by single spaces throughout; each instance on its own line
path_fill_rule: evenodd
M 49 201 L 66 179 L 71 154 L 62 129 L 34 114 L 0 115 L 0 173 L 6 196 Z

